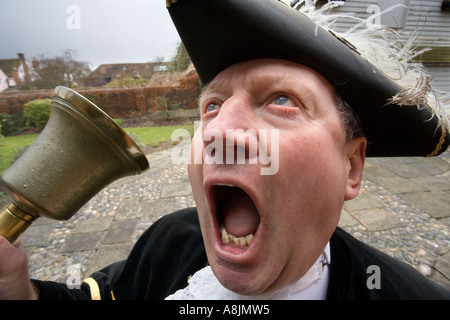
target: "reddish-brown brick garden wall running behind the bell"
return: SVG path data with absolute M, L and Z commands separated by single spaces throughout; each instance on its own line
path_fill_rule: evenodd
M 193 67 L 180 73 L 157 73 L 143 88 L 75 89 L 112 118 L 132 119 L 158 111 L 156 99 L 164 96 L 178 109 L 197 108 L 200 94 L 198 75 Z M 20 115 L 24 104 L 34 99 L 50 98 L 53 90 L 10 91 L 0 93 L 0 112 Z

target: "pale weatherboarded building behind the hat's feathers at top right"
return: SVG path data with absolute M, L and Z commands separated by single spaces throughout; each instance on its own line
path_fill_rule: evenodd
M 320 3 L 323 1 L 319 1 L 317 5 Z M 418 49 L 431 49 L 418 59 L 433 75 L 433 86 L 450 93 L 449 0 L 346 0 L 342 4 L 334 12 L 350 13 L 368 19 L 367 25 L 361 27 L 373 27 L 378 23 L 395 29 L 405 39 L 415 34 L 415 46 Z M 386 11 L 394 5 L 398 6 Z M 382 14 L 379 15 L 380 13 Z M 342 19 L 334 28 L 343 33 L 357 23 L 352 19 Z

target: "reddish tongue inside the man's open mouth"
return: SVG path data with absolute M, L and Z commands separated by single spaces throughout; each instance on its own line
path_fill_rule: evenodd
M 240 188 L 228 190 L 222 215 L 227 232 L 235 237 L 254 234 L 259 225 L 259 213 L 253 200 Z

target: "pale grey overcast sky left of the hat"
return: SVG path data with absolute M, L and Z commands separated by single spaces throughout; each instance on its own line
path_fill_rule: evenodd
M 0 59 L 68 48 L 92 67 L 169 60 L 179 41 L 164 0 L 0 0 Z

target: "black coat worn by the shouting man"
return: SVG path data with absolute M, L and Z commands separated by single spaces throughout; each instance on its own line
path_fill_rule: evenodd
M 331 265 L 327 299 L 450 299 L 450 291 L 413 267 L 337 228 L 330 239 Z M 138 240 L 127 260 L 91 275 L 80 289 L 33 280 L 41 299 L 164 299 L 187 285 L 188 277 L 207 265 L 195 208 L 166 215 Z M 379 289 L 370 277 L 378 267 Z M 368 285 L 369 282 L 369 285 Z M 94 283 L 94 285 L 92 285 Z

